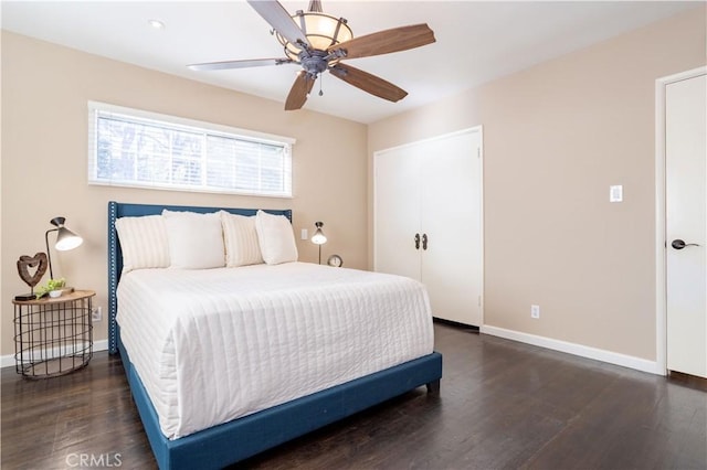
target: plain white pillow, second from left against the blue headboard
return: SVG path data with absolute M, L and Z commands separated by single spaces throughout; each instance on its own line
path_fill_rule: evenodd
M 225 266 L 223 228 L 217 212 L 162 211 L 169 242 L 170 267 L 208 269 Z

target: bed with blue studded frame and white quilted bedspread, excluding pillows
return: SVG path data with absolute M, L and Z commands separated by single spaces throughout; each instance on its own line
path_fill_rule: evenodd
M 425 337 L 431 330 L 431 316 L 429 319 L 418 321 L 418 323 L 429 321 L 429 329 L 424 324 L 409 325 L 415 321 L 402 321 L 394 314 L 391 314 L 390 321 L 381 319 L 372 330 L 369 324 L 369 330 L 365 335 L 371 337 L 366 341 L 372 341 L 372 343 L 361 342 L 359 344 L 362 340 L 351 340 L 352 348 L 358 348 L 356 354 L 360 354 L 360 356 L 347 359 L 347 354 L 341 353 L 341 364 L 344 364 L 341 371 L 337 370 L 338 359 L 335 362 L 324 361 L 321 363 L 320 360 L 312 361 L 307 356 L 314 355 L 312 351 L 323 353 L 321 357 L 336 356 L 338 350 L 333 349 L 333 344 L 339 345 L 346 343 L 349 338 L 354 338 L 345 328 L 366 323 L 357 320 L 358 317 L 356 317 L 365 314 L 365 312 L 359 313 L 358 310 L 366 310 L 366 306 L 369 305 L 368 300 L 356 300 L 354 296 L 357 296 L 358 291 L 380 290 L 383 298 L 387 299 L 386 305 L 397 305 L 391 303 L 391 299 L 395 299 L 394 302 L 402 302 L 403 310 L 419 310 L 418 307 L 405 307 L 408 303 L 410 306 L 418 305 L 421 300 L 419 295 L 414 292 L 410 296 L 404 293 L 404 289 L 409 289 L 404 279 L 369 278 L 369 276 L 387 275 L 293 260 L 276 263 L 273 266 L 263 263 L 236 268 L 223 267 L 201 270 L 136 269 L 125 275 L 122 281 L 125 267 L 124 253 L 116 224 L 119 224 L 123 217 L 126 217 L 124 221 L 136 220 L 134 217 L 151 216 L 155 218 L 163 211 L 196 214 L 225 211 L 225 213 L 236 216 L 265 216 L 257 210 L 250 209 L 108 203 L 109 352 L 118 353 L 123 359 L 131 394 L 160 469 L 223 468 L 416 387 L 425 385 L 430 393 L 439 393 L 442 377 L 442 355 L 432 350 L 428 351 L 430 341 Z M 265 212 L 272 218 L 284 216 L 289 223 L 292 222 L 292 212 L 288 210 Z M 222 216 L 226 217 L 228 215 Z M 139 221 L 147 221 L 147 218 Z M 291 227 L 289 231 L 292 231 Z M 265 249 L 263 249 L 263 256 L 265 257 Z M 201 259 L 197 261 L 201 263 Z M 165 277 L 166 275 L 171 277 Z M 304 280 L 296 287 L 292 287 L 291 280 L 296 282 L 298 278 Z M 285 279 L 288 279 L 287 282 Z M 389 285 L 388 280 L 391 280 L 392 284 Z M 171 287 L 171 293 L 167 296 L 171 303 L 160 303 L 160 298 L 166 296 L 160 297 L 152 293 L 157 292 L 158 286 Z M 328 290 L 327 286 L 329 286 Z M 203 296 L 189 295 L 189 288 L 196 288 L 199 292 L 204 293 Z M 321 301 L 317 300 L 319 293 L 313 290 L 315 288 L 324 292 Z M 181 292 L 187 293 L 180 297 Z M 120 312 L 118 299 L 122 299 L 123 309 Z M 360 303 L 363 308 L 355 309 L 354 303 Z M 242 313 L 240 310 L 238 313 L 230 313 L 231 309 L 235 308 L 233 305 L 238 305 L 239 309 L 242 305 L 260 306 L 261 310 L 257 314 L 253 314 L 250 310 L 244 310 Z M 327 316 L 327 308 L 335 309 L 337 312 L 346 312 L 346 314 L 342 316 L 342 320 L 337 320 L 338 314 Z M 149 314 L 146 314 L 146 309 Z M 171 312 L 177 310 L 180 310 L 178 317 L 180 320 L 170 320 Z M 224 313 L 226 310 L 228 316 Z M 294 316 L 291 310 L 304 319 L 302 321 L 307 324 L 307 328 L 278 327 L 296 324 L 288 323 L 295 321 L 289 319 L 291 316 Z M 167 314 L 167 311 L 170 314 Z M 207 314 L 209 317 L 205 317 Z M 419 313 L 416 314 L 420 317 Z M 119 318 L 119 316 L 122 317 Z M 244 321 L 239 316 L 274 320 L 271 321 L 271 327 L 262 327 L 264 330 L 260 330 L 260 333 L 253 333 L 247 340 L 250 341 L 249 346 L 243 348 L 238 345 L 242 344 L 240 341 L 246 341 L 239 339 Z M 157 330 L 147 332 L 147 329 L 152 327 L 139 323 L 140 319 L 146 317 L 156 318 L 154 328 Z M 193 330 L 188 330 L 187 327 L 183 331 L 177 330 L 177 327 L 172 324 L 169 329 L 169 348 L 158 348 L 156 344 L 162 343 L 146 341 L 145 338 L 140 338 L 140 334 L 147 335 L 147 338 L 161 338 L 160 332 L 167 331 L 167 327 L 158 322 L 157 318 L 160 317 L 175 324 L 194 323 L 198 329 L 205 329 L 203 325 L 212 322 L 217 325 L 212 330 L 220 332 L 218 335 L 220 340 L 199 340 L 192 335 L 194 334 Z M 183 318 L 187 320 L 182 320 Z M 231 323 L 233 324 L 229 327 Z M 255 323 L 267 323 L 267 321 L 256 320 Z M 403 323 L 404 329 L 401 327 Z M 273 324 L 275 329 L 273 329 Z M 325 327 L 327 330 L 336 331 L 333 334 L 334 339 L 327 340 L 333 344 L 317 343 L 320 334 L 315 334 L 315 332 L 324 331 Z M 395 328 L 401 328 L 400 333 L 394 330 Z M 141 330 L 145 331 L 141 332 Z M 378 330 L 382 332 L 382 339 L 377 340 Z M 264 334 L 263 331 L 267 334 Z M 283 337 L 278 339 L 281 334 Z M 167 338 L 167 333 L 165 338 Z M 180 338 L 182 338 L 181 341 Z M 233 338 L 234 340 L 228 341 L 223 338 Z M 260 341 L 255 341 L 253 338 L 260 339 Z M 315 341 L 313 338 L 317 340 Z M 391 341 L 391 338 L 394 341 Z M 224 344 L 218 344 L 220 342 Z M 225 344 L 231 342 L 233 345 Z M 404 344 L 398 346 L 399 342 Z M 395 344 L 388 345 L 388 343 Z M 172 351 L 171 348 L 179 344 L 181 344 L 180 348 L 187 348 L 184 350 L 187 353 L 179 352 L 182 351 L 181 349 L 176 349 L 177 353 Z M 202 349 L 200 349 L 200 344 L 203 345 Z M 229 349 L 229 352 L 219 353 L 222 346 Z M 249 361 L 263 362 L 253 366 L 253 364 L 244 363 L 243 357 L 232 359 L 238 357 L 238 351 L 232 352 L 231 348 L 235 348 L 235 350 L 240 348 L 240 351 L 246 352 L 245 356 L 254 357 Z M 296 350 L 287 348 L 296 348 Z M 150 352 L 143 351 L 144 349 L 154 349 L 156 354 L 161 351 L 162 355 L 181 356 L 187 360 L 170 365 L 173 368 L 169 368 L 168 373 L 162 373 L 166 366 L 161 363 L 156 366 L 152 356 L 149 355 Z M 305 357 L 296 359 L 299 349 L 309 352 L 305 354 Z M 341 349 L 345 348 L 341 346 Z M 384 352 L 378 351 L 383 349 Z M 217 351 L 215 359 L 207 357 L 204 350 Z M 258 355 L 256 352 L 261 350 L 264 353 Z M 292 359 L 295 361 L 293 362 L 295 366 L 277 368 L 277 363 L 283 362 L 283 357 L 295 357 Z M 299 360 L 302 364 L 296 362 Z M 349 361 L 348 365 L 346 365 L 347 360 Z M 268 365 L 270 363 L 266 361 L 271 361 L 274 365 Z M 310 363 L 312 365 L 307 365 L 307 367 L 302 366 Z M 246 371 L 245 375 L 242 372 L 243 367 Z M 241 377 L 249 376 L 250 372 L 247 371 L 250 370 L 247 367 L 270 371 L 270 375 L 263 374 L 265 378 L 258 375 L 257 380 L 249 380 L 247 386 L 245 386 L 245 381 L 241 378 L 235 393 L 239 395 L 238 399 L 235 396 L 223 397 L 224 389 L 234 389 L 232 385 L 231 388 L 228 385 L 219 388 L 220 385 L 217 384 L 213 386 L 213 391 L 211 387 L 203 386 L 204 383 L 214 378 L 221 381 L 225 376 L 238 375 L 235 372 L 232 374 L 219 371 L 241 371 Z M 296 370 L 296 374 L 293 374 L 292 377 L 285 377 L 286 381 L 273 387 L 273 381 L 281 375 L 286 376 L 289 370 Z M 158 375 L 159 377 L 157 377 Z M 298 388 L 298 385 L 291 387 L 289 385 L 295 382 L 295 378 L 304 378 L 309 388 Z M 161 380 L 168 382 L 159 382 Z M 194 392 L 199 388 L 183 386 L 186 382 L 201 384 L 202 395 Z M 251 382 L 255 385 L 251 385 Z M 168 385 L 165 386 L 165 384 Z M 172 392 L 172 388 L 178 392 Z M 312 392 L 309 393 L 307 389 Z M 266 393 L 268 391 L 273 391 L 273 393 Z M 252 405 L 251 408 L 245 409 L 238 404 L 242 396 L 245 397 L 244 402 L 249 403 L 249 406 Z M 200 399 L 202 397 L 203 399 Z M 223 406 L 211 406 L 215 400 L 222 400 Z M 190 406 L 196 406 L 194 410 L 190 412 Z M 212 418 L 200 407 L 218 408 L 218 413 L 214 413 Z M 228 407 L 232 409 L 222 409 Z

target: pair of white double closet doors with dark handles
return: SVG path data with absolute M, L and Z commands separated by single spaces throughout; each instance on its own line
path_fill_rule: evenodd
M 476 128 L 379 151 L 373 162 L 374 269 L 421 280 L 436 318 L 473 325 L 483 323 L 479 147 Z

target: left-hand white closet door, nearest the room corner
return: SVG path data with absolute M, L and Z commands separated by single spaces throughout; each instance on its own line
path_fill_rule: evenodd
M 420 279 L 420 151 L 397 148 L 376 154 L 373 269 Z

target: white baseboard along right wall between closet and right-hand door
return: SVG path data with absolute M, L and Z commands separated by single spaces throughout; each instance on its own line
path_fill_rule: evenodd
M 492 337 L 499 337 L 507 340 L 519 341 L 521 343 L 532 344 L 535 346 L 547 348 L 549 350 L 560 351 L 581 357 L 593 359 L 614 365 L 621 365 L 623 367 L 635 368 L 636 371 L 648 372 L 656 375 L 666 374 L 666 371 L 659 367 L 656 361 L 648 361 L 632 355 L 585 346 L 583 344 L 569 343 L 567 341 L 523 333 L 520 331 L 506 330 L 505 328 L 483 325 L 479 331 L 485 334 L 490 334 Z

